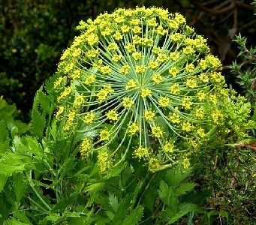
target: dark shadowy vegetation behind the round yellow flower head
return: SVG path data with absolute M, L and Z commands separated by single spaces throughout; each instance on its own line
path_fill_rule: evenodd
M 56 71 L 60 55 L 69 46 L 80 20 L 95 19 L 116 7 L 145 5 L 180 12 L 188 25 L 209 40 L 214 55 L 224 64 L 227 83 L 236 86 L 227 65 L 236 58 L 235 34 L 255 40 L 256 17 L 251 1 L 234 0 L 0 0 L 0 96 L 17 104 L 23 121 L 29 122 L 29 111 L 37 89 Z

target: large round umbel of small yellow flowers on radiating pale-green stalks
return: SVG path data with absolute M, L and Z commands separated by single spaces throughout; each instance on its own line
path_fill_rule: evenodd
M 179 13 L 157 7 L 118 9 L 77 28 L 54 89 L 67 135 L 95 130 L 85 135 L 83 156 L 98 152 L 102 172 L 127 157 L 150 169 L 188 167 L 210 124 L 221 124 L 218 104 L 227 98 L 206 39 Z

